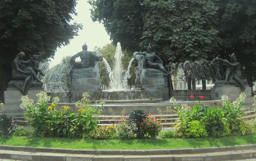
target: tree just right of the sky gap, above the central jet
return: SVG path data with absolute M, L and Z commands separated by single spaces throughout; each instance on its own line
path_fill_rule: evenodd
M 143 31 L 143 0 L 89 0 L 91 18 L 104 24 L 113 44 L 139 50 Z

